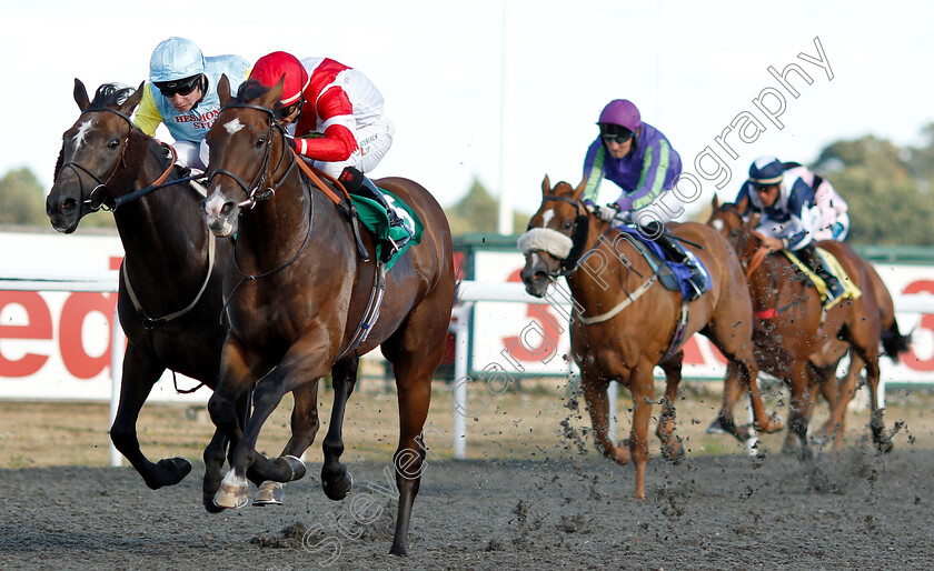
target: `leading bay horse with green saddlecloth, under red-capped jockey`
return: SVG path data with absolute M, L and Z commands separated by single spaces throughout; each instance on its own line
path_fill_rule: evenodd
M 215 234 L 236 236 L 236 266 L 228 269 L 225 284 L 230 332 L 221 380 L 208 408 L 237 448 L 215 501 L 228 508 L 246 501 L 245 472 L 264 462 L 255 451 L 257 434 L 286 391 L 326 374 L 341 353 L 361 355 L 380 347 L 393 363 L 399 401 L 394 455 L 399 512 L 390 553 L 406 554 L 426 453 L 421 430 L 455 295 L 444 210 L 416 182 L 376 181 L 410 206 L 425 226 L 421 241 L 391 270 L 379 271 L 368 234 L 362 240 L 370 261 L 361 260 L 351 224 L 338 207 L 344 202 L 335 181 L 312 183 L 314 171 L 304 171 L 286 144 L 272 111 L 281 81 L 269 90 L 247 83 L 231 99 L 222 78 L 218 90 L 223 108 L 207 137 L 210 179 L 205 212 Z M 355 347 L 351 339 L 378 284 L 385 284 L 378 319 L 367 323 L 368 335 Z M 241 432 L 234 403 L 254 383 L 254 411 Z M 335 398 L 346 400 L 352 385 L 339 374 L 334 383 Z M 350 481 L 339 461 L 339 425 L 332 429 L 334 422 L 324 442 L 321 479 L 328 497 L 339 500 Z

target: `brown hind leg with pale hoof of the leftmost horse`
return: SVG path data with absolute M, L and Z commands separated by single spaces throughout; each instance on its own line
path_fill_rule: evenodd
M 291 414 L 291 438 L 282 449 L 280 458 L 286 459 L 292 469 L 292 480 L 304 477 L 305 463 L 301 455 L 315 442 L 320 421 L 318 420 L 318 382 L 309 382 L 292 391 L 295 407 Z M 300 464 L 300 468 L 299 468 Z M 301 474 L 301 475 L 299 475 Z M 254 505 L 281 505 L 285 498 L 285 483 L 266 480 L 259 484 L 254 497 Z

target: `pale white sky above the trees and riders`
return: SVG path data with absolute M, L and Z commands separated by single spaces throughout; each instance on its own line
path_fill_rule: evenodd
M 152 49 L 180 36 L 206 56 L 254 62 L 285 50 L 362 71 L 396 126 L 372 176 L 416 180 L 445 207 L 477 179 L 534 212 L 546 174 L 580 181 L 600 110 L 629 99 L 695 174 L 698 184 L 682 191 L 690 213 L 715 192 L 735 198 L 762 154 L 806 163 L 865 134 L 921 144 L 921 129 L 934 122 L 932 6 L 228 0 L 173 13 L 168 3 L 7 3 L 0 176 L 28 167 L 50 188 L 61 134 L 78 119 L 74 78 L 91 92 L 105 82 L 138 86 Z M 170 140 L 163 130 L 157 137 Z M 616 196 L 605 184 L 600 199 Z

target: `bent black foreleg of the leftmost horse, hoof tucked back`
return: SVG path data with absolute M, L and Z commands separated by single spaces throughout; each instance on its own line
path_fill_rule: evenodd
M 136 429 L 139 411 L 162 371 L 165 368 L 149 352 L 128 345 L 120 381 L 120 404 L 110 427 L 111 442 L 152 490 L 175 485 L 191 472 L 191 462 L 185 458 L 166 458 L 152 463 L 139 448 Z

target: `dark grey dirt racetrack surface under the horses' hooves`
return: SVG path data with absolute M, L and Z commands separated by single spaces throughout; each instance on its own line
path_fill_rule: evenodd
M 200 505 L 202 465 L 158 491 L 129 468 L 2 470 L 0 568 L 931 569 L 934 558 L 934 452 L 910 444 L 876 455 L 853 443 L 807 464 L 656 457 L 644 501 L 632 467 L 593 451 L 429 460 L 406 559 L 387 554 L 386 465 L 348 467 L 344 502 L 325 498 L 309 463 L 285 505 L 221 514 Z

